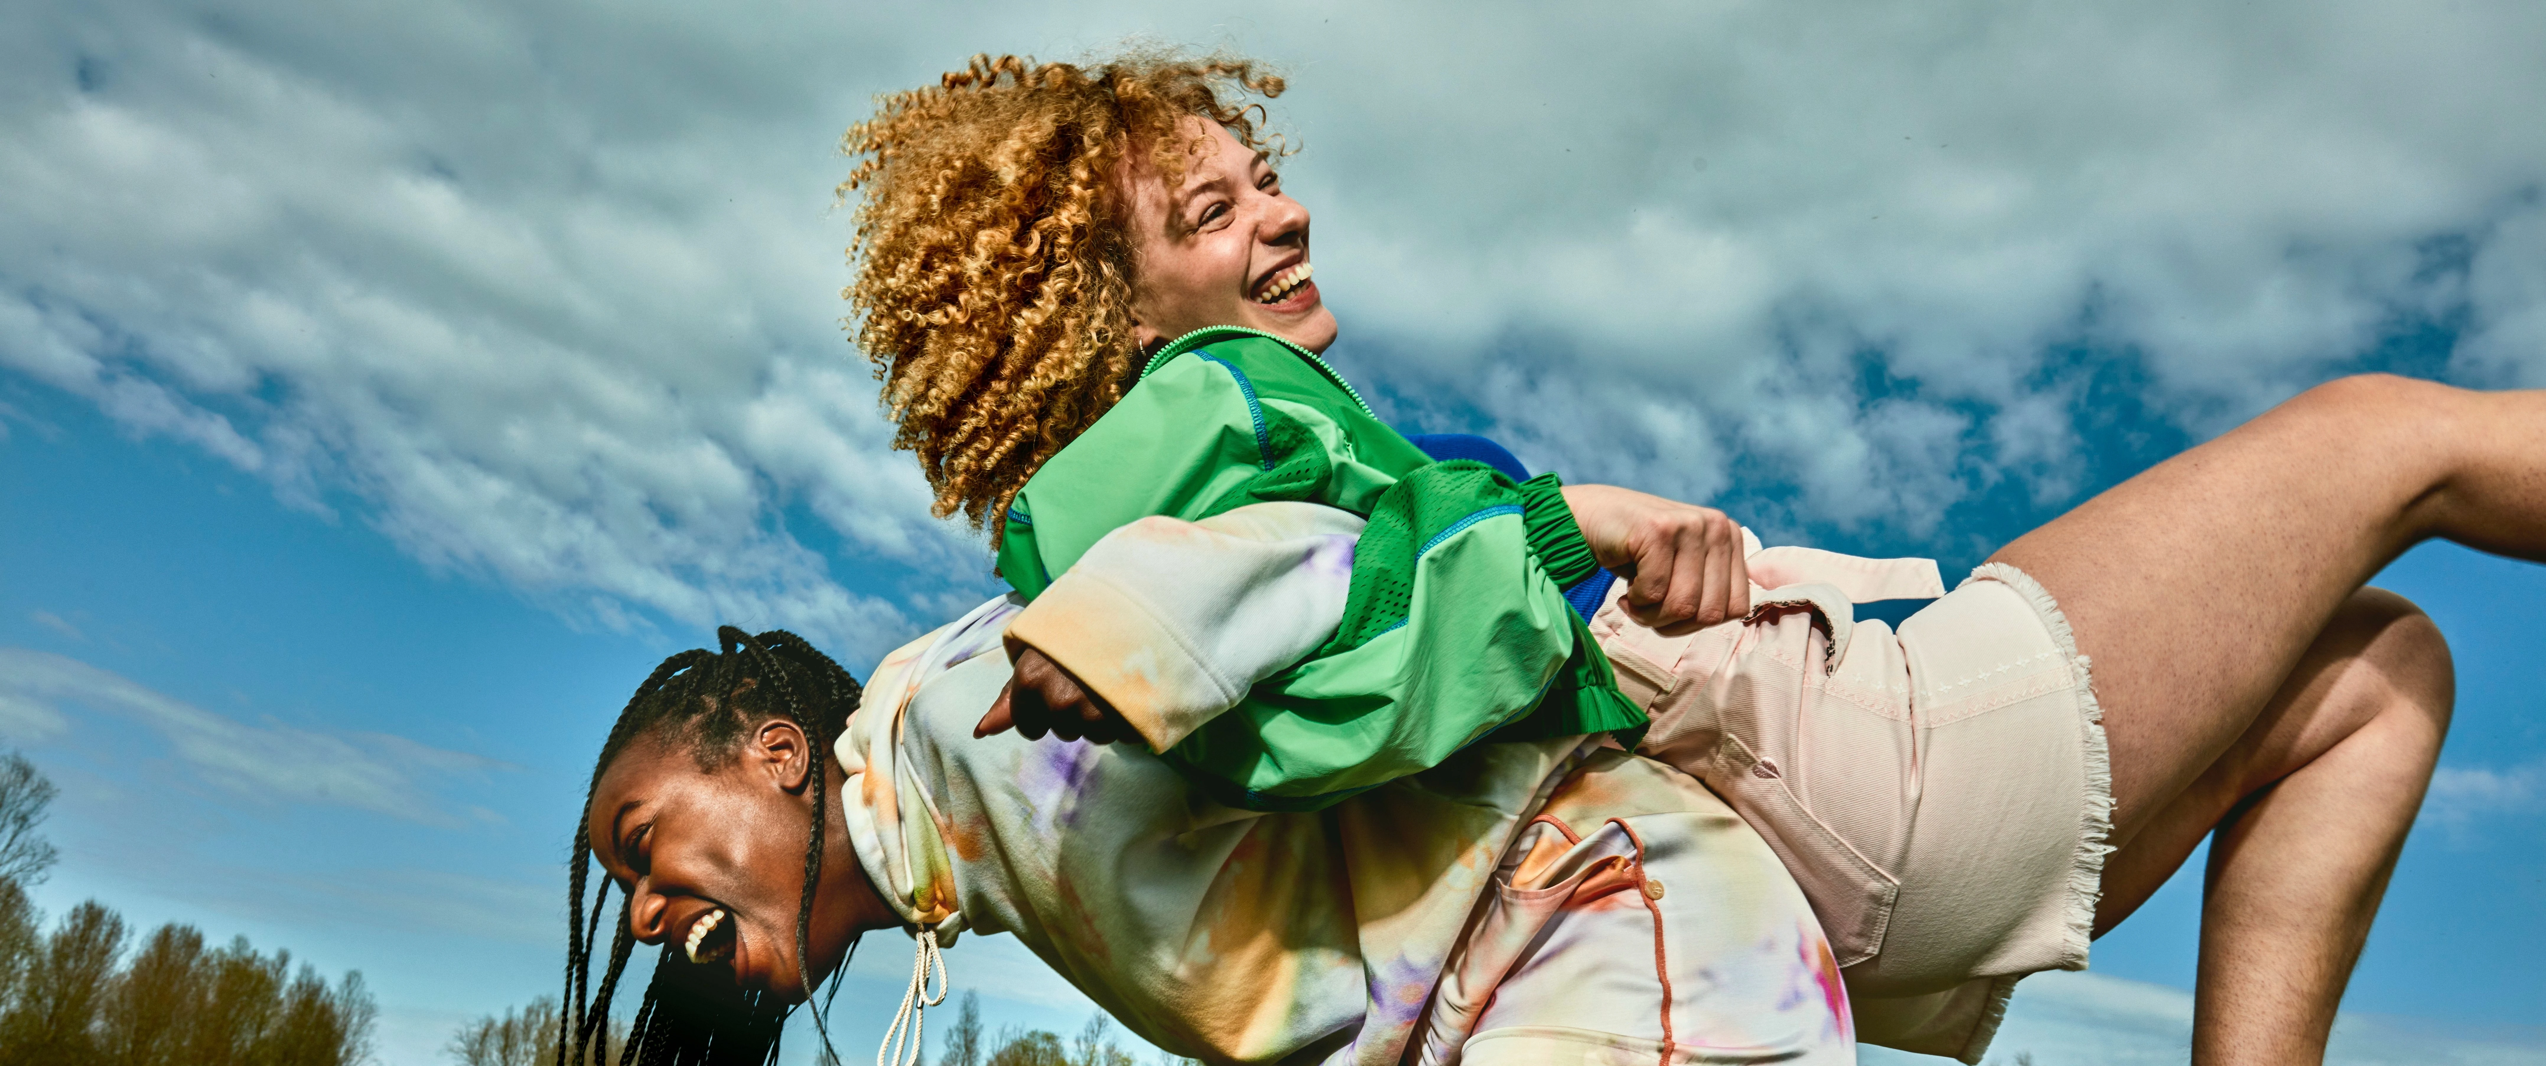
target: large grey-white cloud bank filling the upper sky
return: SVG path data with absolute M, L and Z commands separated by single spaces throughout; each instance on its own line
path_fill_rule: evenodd
M 1576 478 L 1925 537 L 2080 488 L 2060 349 L 2195 435 L 2414 321 L 2546 379 L 2518 3 L 0 18 L 0 366 L 430 565 L 853 661 L 983 560 L 838 333 L 830 145 L 973 51 L 1286 61 L 1362 374 Z

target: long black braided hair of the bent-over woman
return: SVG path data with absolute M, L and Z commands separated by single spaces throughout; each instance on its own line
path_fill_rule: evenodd
M 805 995 L 812 1002 L 812 901 L 822 875 L 822 834 L 830 814 L 830 743 L 858 710 L 858 682 L 838 661 L 817 651 L 802 636 L 774 628 L 743 633 L 733 626 L 715 631 L 721 651 L 690 649 L 665 659 L 654 674 L 636 687 L 601 758 L 593 763 L 593 781 L 586 784 L 583 806 L 591 809 L 593 786 L 636 738 L 659 735 L 685 745 L 703 771 L 731 761 L 743 735 L 756 725 L 784 717 L 805 730 L 807 758 L 812 763 L 812 840 L 805 847 L 805 901 L 797 908 L 797 969 L 805 977 Z M 591 878 L 593 842 L 586 819 L 575 817 L 575 855 L 568 862 L 565 893 L 565 1018 L 558 1025 L 558 1066 L 606 1066 L 611 997 L 619 992 L 619 974 L 636 949 L 629 934 L 629 898 L 619 893 L 619 929 L 611 934 L 608 967 L 601 990 L 591 990 L 593 946 L 601 934 L 601 911 L 608 903 L 614 880 L 603 878 L 591 896 L 586 916 L 586 888 Z M 855 952 L 855 944 L 850 944 Z M 848 969 L 845 962 L 840 969 Z M 838 990 L 838 982 L 833 985 Z M 764 1066 L 777 1061 L 779 1028 L 789 1007 L 766 992 L 736 987 L 721 969 L 698 967 L 680 957 L 677 944 L 665 944 L 647 982 L 644 1000 L 626 1035 L 621 1066 Z M 830 1033 L 822 1010 L 815 1007 L 815 1028 L 825 1051 Z M 838 1061 L 838 1056 L 833 1056 Z

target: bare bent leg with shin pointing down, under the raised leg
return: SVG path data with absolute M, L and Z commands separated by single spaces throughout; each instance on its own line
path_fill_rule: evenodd
M 2095 931 L 2210 845 L 2197 1061 L 2319 1061 L 2449 725 L 2454 672 L 2411 603 L 2360 590 L 2228 753 L 2106 862 Z

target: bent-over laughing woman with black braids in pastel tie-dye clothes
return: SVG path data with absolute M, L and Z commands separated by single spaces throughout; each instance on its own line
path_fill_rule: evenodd
M 1853 1061 L 1803 893 L 1688 776 L 1551 738 L 1479 745 L 1324 812 L 1235 809 L 1130 745 L 975 738 L 1008 682 L 1016 611 L 998 598 L 894 651 L 863 710 L 792 633 L 726 628 L 723 654 L 657 667 L 603 743 L 578 829 L 560 1063 L 596 1061 L 636 941 L 662 954 L 629 1061 L 756 1066 L 787 1007 L 876 929 L 914 931 L 878 1056 L 901 1066 L 945 995 L 937 952 L 965 931 L 1018 936 L 1130 1030 L 1207 1061 L 1517 1063 L 1579 1033 L 1637 1058 Z M 586 857 L 608 875 L 596 901 Z M 1622 941 L 1642 954 L 1609 952 Z M 1619 979 L 1629 995 L 1573 1010 L 1563 1038 L 1479 1028 L 1497 985 Z

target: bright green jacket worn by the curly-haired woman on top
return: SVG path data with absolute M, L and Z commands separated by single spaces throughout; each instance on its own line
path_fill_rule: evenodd
M 1016 494 L 998 567 L 1034 600 L 1125 524 L 1268 501 L 1367 527 L 1334 636 L 1166 751 L 1214 799 L 1321 809 L 1489 735 L 1642 733 L 1645 712 L 1563 598 L 1596 562 L 1556 476 L 1433 463 L 1270 333 L 1207 328 L 1161 349 Z

